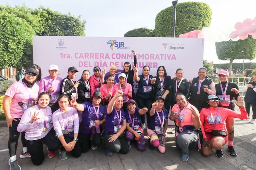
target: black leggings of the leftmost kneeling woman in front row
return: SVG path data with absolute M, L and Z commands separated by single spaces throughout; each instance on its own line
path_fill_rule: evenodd
M 46 144 L 48 151 L 52 152 L 58 150 L 60 147 L 60 141 L 55 137 L 53 128 L 45 137 L 32 141 L 25 139 L 25 142 L 31 154 L 31 161 L 35 165 L 41 165 L 44 161 L 43 143 Z

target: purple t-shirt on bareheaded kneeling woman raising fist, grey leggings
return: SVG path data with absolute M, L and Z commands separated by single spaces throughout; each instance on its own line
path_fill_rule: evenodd
M 125 116 L 124 116 L 124 110 L 121 108 L 120 111 L 117 111 L 118 116 L 120 116 L 120 112 L 121 112 L 121 122 L 120 122 L 120 127 L 122 126 L 124 120 L 125 120 Z M 118 117 L 116 115 L 116 109 L 114 108 L 112 110 L 112 112 L 110 114 L 106 114 L 106 122 L 105 122 L 105 129 L 109 132 L 109 133 L 117 133 L 117 128 L 118 128 Z M 106 131 L 104 131 L 104 133 L 108 133 Z

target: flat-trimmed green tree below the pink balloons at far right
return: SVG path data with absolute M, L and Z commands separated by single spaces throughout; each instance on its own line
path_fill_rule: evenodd
M 253 60 L 256 55 L 256 40 L 251 35 L 245 40 L 216 42 L 218 59 L 229 60 L 228 72 L 231 73 L 233 61 L 236 59 Z

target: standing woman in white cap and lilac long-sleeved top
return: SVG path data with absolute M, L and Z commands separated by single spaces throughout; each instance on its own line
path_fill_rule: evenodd
M 51 94 L 51 99 L 49 107 L 52 109 L 52 113 L 59 109 L 58 98 L 60 96 L 60 84 L 62 78 L 58 77 L 59 67 L 57 65 L 50 65 L 49 76 L 42 78 L 39 83 L 39 94 L 41 92 L 49 92 Z

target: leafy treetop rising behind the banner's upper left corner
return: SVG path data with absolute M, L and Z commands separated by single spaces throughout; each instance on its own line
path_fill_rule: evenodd
M 85 21 L 81 21 L 81 16 L 75 18 L 70 13 L 61 14 L 58 11 L 51 11 L 49 8 L 40 6 L 32 11 L 33 15 L 38 16 L 43 26 L 40 35 L 48 36 L 84 36 Z

